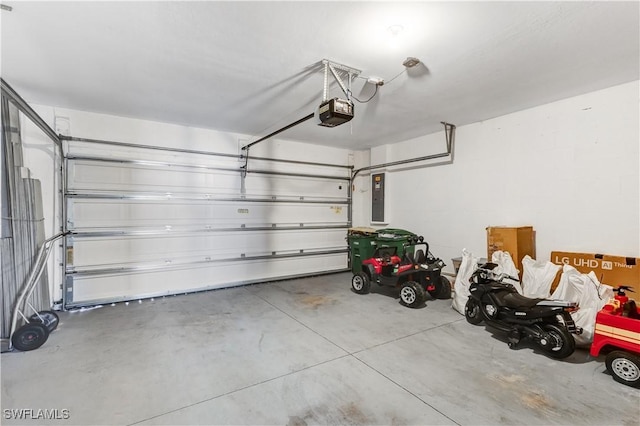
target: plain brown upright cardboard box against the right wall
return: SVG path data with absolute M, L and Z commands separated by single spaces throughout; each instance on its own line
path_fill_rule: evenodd
M 536 258 L 536 238 L 532 226 L 487 228 L 487 258 L 498 251 L 508 251 L 522 276 L 522 258 L 527 254 Z

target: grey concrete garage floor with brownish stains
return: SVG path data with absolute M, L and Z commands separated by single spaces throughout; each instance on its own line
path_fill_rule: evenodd
M 640 390 L 602 357 L 556 361 L 351 274 L 61 313 L 43 347 L 2 354 L 9 409 L 56 424 L 640 424 Z M 375 286 L 374 286 L 375 287 Z M 383 289 L 386 290 L 386 289 Z

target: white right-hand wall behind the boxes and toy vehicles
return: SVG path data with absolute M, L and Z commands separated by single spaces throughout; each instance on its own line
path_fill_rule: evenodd
M 533 225 L 541 260 L 640 256 L 638 93 L 636 81 L 459 127 L 453 164 L 387 170 L 389 227 L 424 235 L 448 263 L 463 248 L 486 256 L 487 226 Z M 372 163 L 444 151 L 444 133 L 389 148 Z M 367 226 L 370 194 L 357 201 L 354 225 Z

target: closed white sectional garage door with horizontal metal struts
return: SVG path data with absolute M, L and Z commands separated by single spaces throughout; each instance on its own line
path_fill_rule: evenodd
M 66 144 L 67 308 L 347 267 L 348 166 Z

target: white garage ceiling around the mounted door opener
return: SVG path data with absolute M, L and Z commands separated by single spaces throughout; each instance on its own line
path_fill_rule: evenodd
M 364 149 L 640 78 L 637 1 L 2 3 L 2 78 L 27 102 L 250 140 L 317 110 L 322 59 L 362 70 L 362 100 L 387 84 L 350 123 L 279 138 Z

